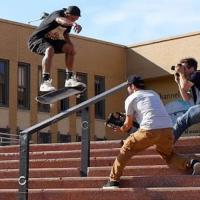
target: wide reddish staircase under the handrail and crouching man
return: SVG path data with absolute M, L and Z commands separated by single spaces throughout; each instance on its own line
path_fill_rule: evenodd
M 88 177 L 80 177 L 80 143 L 30 147 L 29 200 L 198 200 L 200 176 L 170 169 L 154 147 L 134 156 L 125 168 L 122 188 L 103 190 L 120 141 L 91 142 Z M 184 137 L 177 152 L 200 155 L 200 137 Z M 0 200 L 18 193 L 19 146 L 0 147 Z

